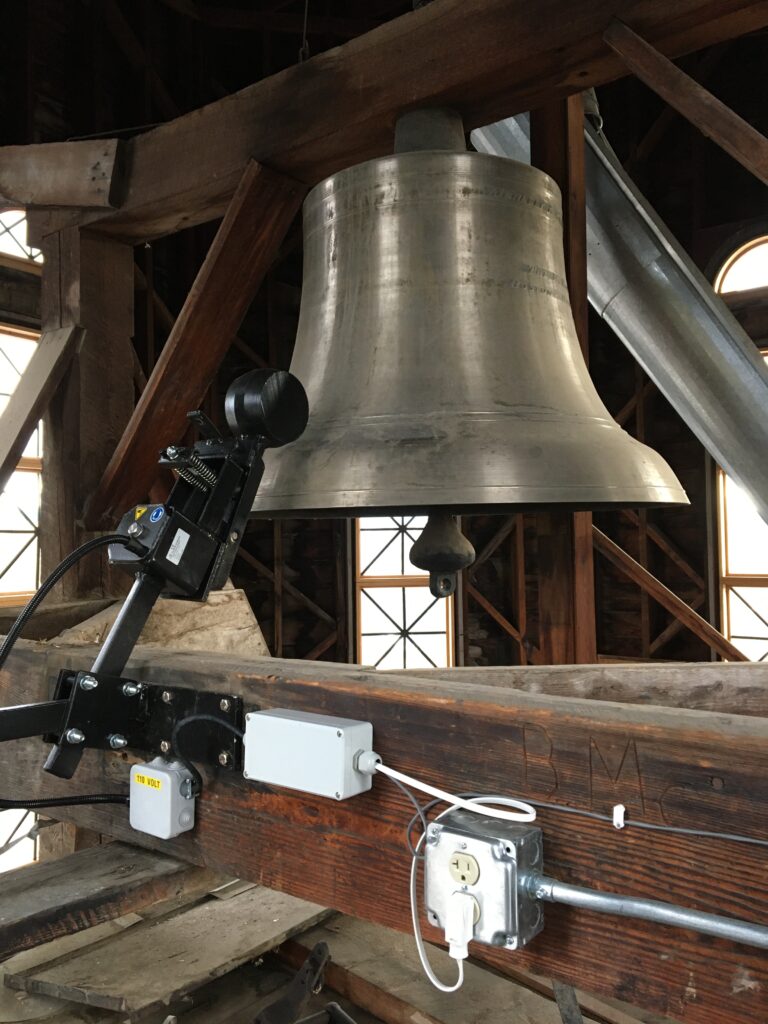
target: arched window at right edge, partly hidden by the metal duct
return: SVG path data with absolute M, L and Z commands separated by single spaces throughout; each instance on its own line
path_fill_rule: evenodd
M 725 261 L 715 289 L 768 290 L 768 236 L 740 246 Z M 768 296 L 766 297 L 768 301 Z M 763 356 L 768 362 L 768 339 Z M 767 454 L 768 457 L 768 454 Z M 768 523 L 744 492 L 718 471 L 723 632 L 755 662 L 768 660 Z

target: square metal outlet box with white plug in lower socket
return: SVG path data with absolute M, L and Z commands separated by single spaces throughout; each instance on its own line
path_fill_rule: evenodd
M 427 916 L 444 928 L 453 893 L 475 899 L 474 941 L 519 949 L 541 932 L 540 903 L 520 885 L 543 865 L 542 830 L 474 811 L 452 811 L 427 829 L 424 843 Z

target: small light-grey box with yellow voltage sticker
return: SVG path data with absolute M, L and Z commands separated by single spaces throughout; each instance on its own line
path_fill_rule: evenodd
M 155 758 L 131 768 L 130 824 L 137 831 L 173 839 L 195 827 L 193 776 L 179 761 Z

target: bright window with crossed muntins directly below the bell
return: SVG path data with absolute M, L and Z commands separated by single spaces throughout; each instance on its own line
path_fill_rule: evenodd
M 433 597 L 409 561 L 426 516 L 357 520 L 357 659 L 377 669 L 453 664 L 453 599 Z

